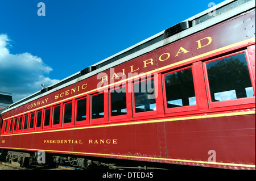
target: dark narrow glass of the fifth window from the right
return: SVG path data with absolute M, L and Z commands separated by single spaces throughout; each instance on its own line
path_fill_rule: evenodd
M 92 119 L 104 117 L 104 93 L 92 96 Z

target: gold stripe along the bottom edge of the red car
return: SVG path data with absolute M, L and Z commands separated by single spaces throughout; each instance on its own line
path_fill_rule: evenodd
M 2 149 L 18 149 L 18 150 L 30 150 L 30 151 L 39 151 L 43 149 L 24 149 L 24 148 L 7 148 L 7 147 L 0 147 Z M 57 150 L 44 150 L 48 152 L 56 152 L 56 153 L 65 153 L 65 154 L 84 154 L 84 155 L 94 155 L 94 156 L 105 156 L 105 157 L 121 157 L 121 158 L 139 158 L 139 159 L 154 159 L 154 160 L 161 160 L 161 161 L 173 161 L 173 162 L 187 162 L 187 163 L 201 163 L 201 164 L 210 164 L 210 165 L 224 165 L 224 166 L 236 166 L 236 167 L 251 167 L 255 168 L 255 165 L 245 165 L 245 164 L 238 164 L 238 163 L 221 163 L 221 162 L 206 162 L 206 161 L 194 161 L 194 160 L 187 160 L 187 159 L 171 159 L 171 158 L 155 158 L 155 157 L 137 157 L 137 156 L 130 156 L 130 155 L 116 155 L 116 154 L 101 154 L 101 153 L 86 153 L 86 152 L 76 152 L 76 151 L 57 151 Z

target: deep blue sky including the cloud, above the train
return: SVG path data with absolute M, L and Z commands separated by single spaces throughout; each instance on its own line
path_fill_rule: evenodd
M 46 16 L 38 16 L 38 3 Z M 222 1 L 0 0 L 0 91 L 14 101 Z

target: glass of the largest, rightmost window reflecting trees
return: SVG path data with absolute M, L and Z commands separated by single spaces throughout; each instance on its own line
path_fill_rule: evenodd
M 212 102 L 254 96 L 245 53 L 208 62 Z

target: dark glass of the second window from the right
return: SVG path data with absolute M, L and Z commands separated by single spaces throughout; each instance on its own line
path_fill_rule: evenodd
M 196 105 L 192 68 L 164 75 L 167 108 Z

